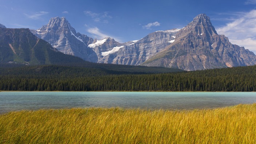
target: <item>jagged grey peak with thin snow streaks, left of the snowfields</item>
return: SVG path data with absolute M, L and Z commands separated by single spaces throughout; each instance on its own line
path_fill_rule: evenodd
M 87 61 L 98 61 L 96 53 L 88 48 L 93 39 L 76 33 L 65 17 L 53 17 L 47 25 L 37 30 L 31 30 L 31 32 L 64 54 L 81 57 Z

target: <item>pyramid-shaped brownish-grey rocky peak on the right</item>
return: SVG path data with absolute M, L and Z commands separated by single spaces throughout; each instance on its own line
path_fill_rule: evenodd
M 231 44 L 224 35 L 218 35 L 209 17 L 200 14 L 176 33 L 173 43 L 141 65 L 194 71 L 255 64 L 253 52 Z

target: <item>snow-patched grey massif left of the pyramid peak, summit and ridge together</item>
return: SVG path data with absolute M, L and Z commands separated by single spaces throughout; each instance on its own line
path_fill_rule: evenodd
M 31 30 L 65 54 L 91 62 L 123 65 L 140 65 L 169 45 L 177 31 L 157 31 L 140 40 L 119 43 L 110 37 L 97 40 L 76 33 L 65 17 L 53 17 L 42 28 Z

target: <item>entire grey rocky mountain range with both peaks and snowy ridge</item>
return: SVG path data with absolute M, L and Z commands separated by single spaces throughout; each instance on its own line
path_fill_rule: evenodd
M 58 51 L 96 63 L 145 65 L 187 71 L 255 65 L 256 56 L 218 35 L 205 14 L 182 29 L 156 31 L 140 40 L 119 43 L 112 38 L 92 39 L 76 33 L 64 17 L 52 18 L 31 30 Z

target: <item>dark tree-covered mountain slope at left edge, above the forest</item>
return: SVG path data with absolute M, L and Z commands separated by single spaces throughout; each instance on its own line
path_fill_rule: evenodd
M 29 29 L 0 28 L 0 33 L 0 63 L 37 65 L 84 62 L 79 57 L 58 52 Z

